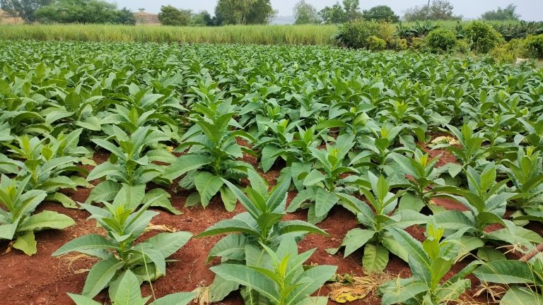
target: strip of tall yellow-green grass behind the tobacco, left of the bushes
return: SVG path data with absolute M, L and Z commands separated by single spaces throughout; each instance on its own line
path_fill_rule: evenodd
M 127 25 L 0 25 L 4 40 L 95 42 L 209 42 L 239 44 L 332 44 L 335 25 L 228 25 L 170 27 Z

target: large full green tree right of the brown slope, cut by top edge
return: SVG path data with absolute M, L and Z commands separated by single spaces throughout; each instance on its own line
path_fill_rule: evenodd
M 215 7 L 219 24 L 265 24 L 274 16 L 269 0 L 218 0 Z

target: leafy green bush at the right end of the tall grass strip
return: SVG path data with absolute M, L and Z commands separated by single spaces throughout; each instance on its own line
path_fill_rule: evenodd
M 375 36 L 390 42 L 394 27 L 389 23 L 375 21 L 355 20 L 341 25 L 339 32 L 334 36 L 337 44 L 354 49 L 368 49 L 370 37 Z

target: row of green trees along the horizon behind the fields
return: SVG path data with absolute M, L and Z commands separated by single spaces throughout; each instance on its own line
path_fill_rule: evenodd
M 20 17 L 25 23 L 103 23 L 135 25 L 134 13 L 128 8 L 117 8 L 102 0 L 0 0 L 0 8 L 8 16 Z M 144 8 L 140 8 L 143 11 Z M 461 20 L 455 15 L 454 6 L 447 0 L 428 1 L 414 6 L 400 18 L 389 6 L 375 6 L 361 10 L 359 0 L 342 0 L 317 11 L 305 0 L 293 8 L 296 24 L 342 24 L 354 20 L 373 20 L 398 23 L 400 20 Z M 482 20 L 519 20 L 516 6 L 498 7 L 481 15 Z M 214 16 L 207 11 L 194 11 L 162 6 L 158 20 L 163 25 L 257 25 L 267 24 L 276 15 L 270 0 L 218 0 Z

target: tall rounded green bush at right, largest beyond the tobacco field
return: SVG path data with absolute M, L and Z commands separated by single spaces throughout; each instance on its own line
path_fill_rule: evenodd
M 488 53 L 498 44 L 505 42 L 503 36 L 490 23 L 484 21 L 473 21 L 466 25 L 465 35 L 476 53 Z

